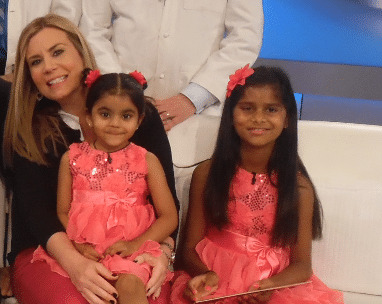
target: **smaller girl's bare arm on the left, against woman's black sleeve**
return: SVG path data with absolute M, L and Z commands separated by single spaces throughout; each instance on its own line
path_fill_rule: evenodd
M 68 227 L 71 201 L 72 174 L 69 166 L 69 152 L 65 152 L 61 157 L 57 185 L 57 216 L 65 229 Z

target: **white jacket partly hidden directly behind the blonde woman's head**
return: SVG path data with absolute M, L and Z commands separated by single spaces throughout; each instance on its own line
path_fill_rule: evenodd
M 17 43 L 24 27 L 35 18 L 50 12 L 67 17 L 78 25 L 81 17 L 81 0 L 9 0 L 5 74 L 12 72 Z

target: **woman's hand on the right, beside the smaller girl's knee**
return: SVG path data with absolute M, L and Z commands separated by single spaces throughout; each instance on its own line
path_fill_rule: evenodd
M 166 279 L 168 270 L 168 259 L 164 253 L 159 257 L 154 257 L 148 253 L 143 253 L 135 259 L 138 264 L 146 262 L 153 267 L 150 280 L 146 284 L 146 295 L 152 295 L 154 299 L 159 297 L 161 286 Z

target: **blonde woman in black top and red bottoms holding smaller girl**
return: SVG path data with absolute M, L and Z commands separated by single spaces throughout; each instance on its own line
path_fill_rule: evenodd
M 85 68 L 96 68 L 94 56 L 78 28 L 67 19 L 47 15 L 22 32 L 3 143 L 13 192 L 9 261 L 13 292 L 20 303 L 116 303 L 118 297 L 113 274 L 76 251 L 56 214 L 60 157 L 69 144 L 82 137 L 92 141 L 85 123 Z M 148 108 L 132 141 L 161 160 L 175 197 L 169 143 L 158 113 L 153 106 Z M 37 245 L 59 262 L 70 280 L 42 263 L 30 263 Z M 155 266 L 147 284 L 148 295 L 155 297 L 164 280 L 166 256 L 171 254 L 168 246 L 162 247 L 161 257 L 146 255 L 138 261 L 145 259 Z

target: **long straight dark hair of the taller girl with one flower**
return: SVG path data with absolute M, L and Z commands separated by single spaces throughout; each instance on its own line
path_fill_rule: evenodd
M 226 99 L 219 127 L 216 147 L 211 159 L 204 192 L 205 210 L 209 222 L 222 228 L 228 223 L 227 204 L 231 181 L 240 163 L 240 138 L 233 126 L 233 111 L 246 88 L 272 85 L 278 90 L 286 108 L 288 127 L 276 140 L 268 164 L 268 174 L 278 176 L 278 203 L 272 231 L 273 246 L 288 246 L 297 241 L 299 191 L 297 174 L 311 179 L 297 152 L 297 106 L 286 73 L 276 67 L 260 66 L 249 76 L 245 85 L 238 85 Z M 313 184 L 312 184 L 313 186 Z M 313 188 L 314 189 L 314 188 Z M 314 190 L 313 238 L 322 234 L 321 205 Z

